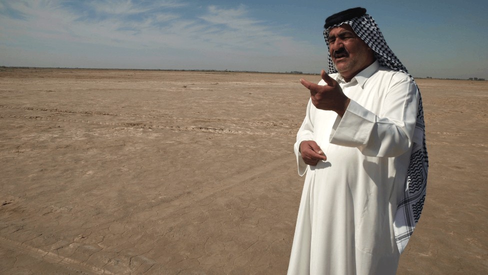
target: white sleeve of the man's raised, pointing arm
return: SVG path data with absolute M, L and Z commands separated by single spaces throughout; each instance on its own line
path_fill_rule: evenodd
M 346 112 L 337 116 L 329 141 L 357 147 L 363 155 L 396 157 L 413 142 L 418 91 L 406 75 L 392 78 L 379 114 L 351 100 Z

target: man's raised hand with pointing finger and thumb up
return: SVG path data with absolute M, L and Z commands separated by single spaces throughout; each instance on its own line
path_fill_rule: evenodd
M 337 81 L 329 77 L 324 70 L 320 72 L 320 76 L 327 85 L 317 85 L 304 79 L 300 79 L 300 83 L 310 90 L 310 98 L 317 109 L 334 111 L 342 117 L 350 99 L 342 93 Z

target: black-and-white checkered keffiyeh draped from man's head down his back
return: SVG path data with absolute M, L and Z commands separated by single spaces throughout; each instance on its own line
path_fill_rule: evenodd
M 408 74 L 405 66 L 401 64 L 398 58 L 389 49 L 388 45 L 386 45 L 381 31 L 372 17 L 370 17 L 368 14 L 364 14 L 361 17 L 356 17 L 340 24 L 336 24 L 331 28 L 340 26 L 342 24 L 351 26 L 356 35 L 374 51 L 375 58 L 378 60 L 380 66 L 388 67 L 392 70 L 407 74 L 418 90 L 418 86 L 413 77 Z M 323 31 L 323 36 L 325 38 L 325 43 L 327 43 L 327 47 L 329 47 L 328 34 L 331 28 Z M 329 74 L 337 72 L 334 64 L 332 63 L 330 53 L 328 54 L 328 72 Z M 425 123 L 423 120 L 421 97 L 419 97 L 418 100 L 415 131 L 422 134 L 422 144 L 413 146 L 412 154 L 410 156 L 410 164 L 408 165 L 407 170 L 407 178 L 405 180 L 405 191 L 403 192 L 401 201 L 398 202 L 395 220 L 393 223 L 395 240 L 400 253 L 405 248 L 410 236 L 413 233 L 415 224 L 420 218 L 420 212 L 423 208 L 427 186 L 428 157 L 427 148 L 425 146 Z

